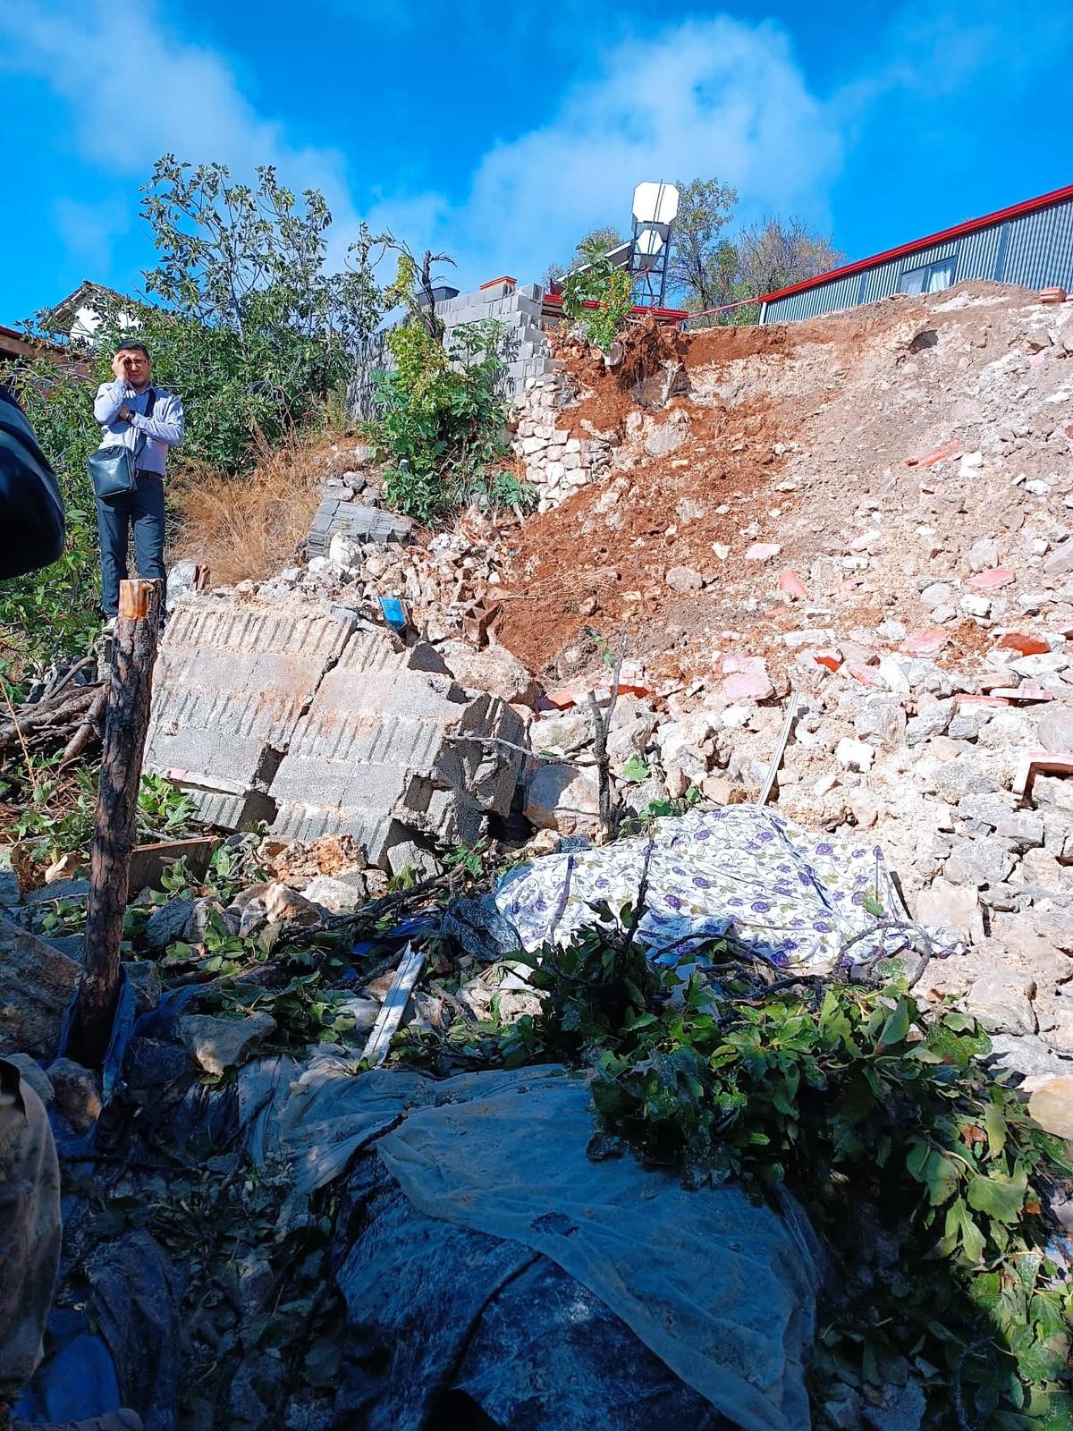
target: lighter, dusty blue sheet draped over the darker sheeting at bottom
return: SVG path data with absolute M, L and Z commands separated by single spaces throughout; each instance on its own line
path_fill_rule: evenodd
M 283 1225 L 375 1146 L 415 1208 L 549 1258 L 734 1425 L 808 1425 L 820 1274 L 803 1213 L 740 1188 L 685 1192 L 632 1156 L 592 1162 L 587 1079 L 554 1066 L 355 1076 L 329 1058 L 302 1070 L 268 1059 L 242 1070 L 239 1098 L 256 1118 L 252 1156 L 290 1179 Z

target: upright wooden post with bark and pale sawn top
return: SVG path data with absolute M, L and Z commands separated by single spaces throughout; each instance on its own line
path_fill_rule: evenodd
M 116 1007 L 119 946 L 159 620 L 160 582 L 120 582 L 86 907 L 84 967 L 67 1040 L 67 1053 L 87 1068 L 100 1068 L 104 1062 Z

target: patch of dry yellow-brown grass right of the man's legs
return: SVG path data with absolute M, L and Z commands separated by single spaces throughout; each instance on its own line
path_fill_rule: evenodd
M 270 577 L 295 560 L 328 477 L 330 441 L 295 434 L 285 446 L 259 444 L 258 465 L 242 477 L 187 468 L 173 489 L 179 515 L 175 555 L 209 568 L 213 585 Z

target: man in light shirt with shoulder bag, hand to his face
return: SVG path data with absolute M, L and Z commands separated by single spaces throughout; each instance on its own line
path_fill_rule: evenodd
M 179 398 L 152 386 L 152 369 L 144 343 L 123 343 L 112 359 L 116 381 L 103 382 L 93 404 L 93 416 L 100 424 L 100 445 L 130 448 L 137 467 L 130 492 L 97 498 L 106 630 L 114 627 L 119 612 L 119 584 L 127 577 L 132 527 L 139 577 L 165 581 L 165 472 L 169 446 L 183 441 L 185 418 Z

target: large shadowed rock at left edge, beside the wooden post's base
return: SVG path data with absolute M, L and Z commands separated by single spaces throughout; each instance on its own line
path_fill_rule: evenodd
M 80 975 L 73 959 L 0 919 L 0 1056 L 54 1058 Z

